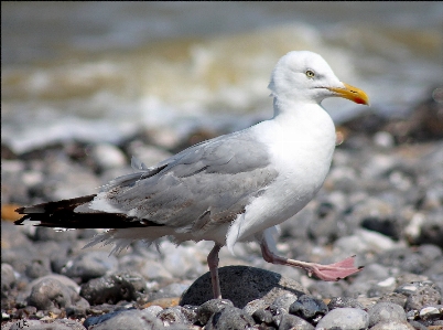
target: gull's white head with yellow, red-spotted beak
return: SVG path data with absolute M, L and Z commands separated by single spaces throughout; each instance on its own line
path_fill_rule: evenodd
M 269 88 L 279 100 L 320 104 L 326 97 L 337 96 L 369 104 L 365 92 L 342 83 L 322 56 L 309 51 L 289 52 L 281 57 Z

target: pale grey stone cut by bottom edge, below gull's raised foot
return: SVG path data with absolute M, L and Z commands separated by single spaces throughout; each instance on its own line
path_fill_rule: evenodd
M 336 308 L 325 315 L 315 329 L 337 327 L 342 330 L 359 330 L 368 328 L 368 324 L 369 316 L 366 311 L 358 308 Z

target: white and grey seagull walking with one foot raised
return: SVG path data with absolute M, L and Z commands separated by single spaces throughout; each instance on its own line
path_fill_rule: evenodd
M 277 63 L 269 84 L 273 117 L 247 129 L 190 147 L 153 167 L 132 158 L 137 172 L 96 194 L 17 210 L 17 225 L 109 228 L 85 247 L 114 244 L 118 253 L 136 239 L 163 236 L 174 243 L 213 241 L 208 254 L 214 298 L 222 298 L 218 253 L 257 242 L 266 262 L 303 268 L 338 280 L 358 273 L 354 257 L 321 265 L 278 255 L 275 226 L 302 210 L 329 170 L 335 127 L 320 105 L 343 97 L 368 105 L 365 92 L 342 83 L 323 57 L 293 51 Z

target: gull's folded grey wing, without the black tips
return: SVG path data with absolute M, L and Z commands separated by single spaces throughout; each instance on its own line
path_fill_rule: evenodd
M 245 212 L 249 201 L 275 177 L 264 146 L 247 131 L 239 131 L 193 146 L 145 171 L 120 177 L 99 195 L 137 219 L 180 232 L 206 231 Z

